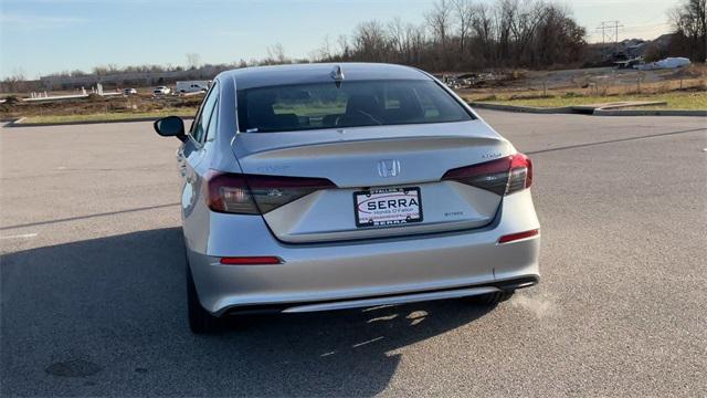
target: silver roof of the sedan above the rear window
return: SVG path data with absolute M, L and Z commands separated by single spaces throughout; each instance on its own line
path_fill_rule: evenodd
M 231 77 L 238 90 L 287 84 L 331 82 L 331 72 L 341 67 L 344 82 L 371 80 L 431 80 L 424 72 L 402 65 L 383 63 L 314 63 L 275 66 L 253 66 L 221 73 Z

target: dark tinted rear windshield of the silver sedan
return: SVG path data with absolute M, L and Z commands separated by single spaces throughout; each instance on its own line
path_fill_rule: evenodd
M 241 132 L 424 124 L 473 117 L 432 81 L 335 82 L 239 90 Z

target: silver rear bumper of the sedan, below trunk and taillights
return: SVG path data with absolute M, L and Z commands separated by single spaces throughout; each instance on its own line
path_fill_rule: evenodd
M 539 275 L 539 235 L 497 243 L 504 234 L 539 228 L 528 190 L 505 197 L 485 228 L 407 238 L 285 244 L 262 219 L 213 212 L 208 219 L 208 234 L 186 240 L 201 304 L 215 315 L 451 298 L 529 285 Z M 284 263 L 220 264 L 221 256 L 234 255 L 276 255 Z

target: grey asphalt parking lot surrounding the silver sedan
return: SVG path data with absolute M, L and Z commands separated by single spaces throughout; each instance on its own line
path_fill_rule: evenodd
M 535 161 L 542 282 L 187 326 L 176 139 L 0 129 L 8 396 L 706 396 L 707 121 L 484 112 Z

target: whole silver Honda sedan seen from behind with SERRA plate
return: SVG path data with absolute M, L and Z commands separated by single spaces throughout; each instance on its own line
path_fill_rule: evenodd
M 245 312 L 471 297 L 538 282 L 532 164 L 430 74 L 246 67 L 213 81 L 182 142 L 194 333 Z

